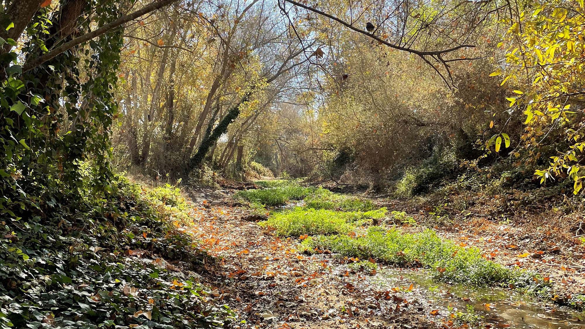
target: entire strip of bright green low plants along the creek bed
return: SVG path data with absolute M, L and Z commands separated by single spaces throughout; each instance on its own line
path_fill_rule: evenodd
M 294 183 L 273 183 L 273 187 L 264 191 L 281 193 L 291 184 Z M 416 225 L 416 221 L 402 211 L 393 211 L 387 217 L 386 208 L 375 209 L 375 205 L 368 200 L 344 198 L 322 188 L 307 194 L 305 203 L 305 207 L 274 211 L 260 225 L 273 228 L 281 236 L 302 237 L 302 248 L 309 253 L 328 250 L 350 258 L 422 267 L 436 280 L 448 283 L 512 286 L 539 297 L 550 298 L 554 295 L 550 283 L 538 273 L 490 261 L 480 249 L 442 239 L 432 229 L 405 234 L 396 225 Z M 352 211 L 342 211 L 343 208 Z M 394 225 L 374 225 L 378 222 Z M 556 302 L 579 309 L 582 304 L 579 298 Z

